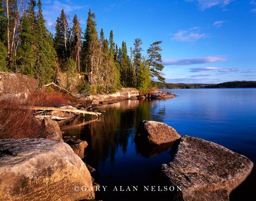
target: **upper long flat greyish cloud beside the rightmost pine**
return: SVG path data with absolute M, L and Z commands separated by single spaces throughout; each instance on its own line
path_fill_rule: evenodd
M 210 56 L 210 57 L 194 57 L 184 59 L 163 59 L 164 66 L 186 66 L 193 64 L 216 63 L 218 61 L 226 61 L 226 56 Z

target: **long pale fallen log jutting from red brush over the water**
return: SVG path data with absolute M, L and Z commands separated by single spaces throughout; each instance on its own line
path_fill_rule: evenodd
M 91 115 L 101 115 L 102 113 L 95 113 L 95 112 L 87 112 L 84 110 L 79 109 L 63 109 L 63 108 L 57 108 L 57 107 L 37 107 L 37 106 L 19 106 L 21 109 L 32 109 L 32 110 L 57 110 L 62 112 L 73 112 L 73 113 L 82 113 L 82 114 L 91 114 Z

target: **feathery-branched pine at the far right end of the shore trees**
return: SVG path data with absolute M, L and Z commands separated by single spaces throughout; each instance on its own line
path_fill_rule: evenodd
M 156 41 L 152 43 L 147 50 L 147 65 L 150 68 L 150 73 L 152 78 L 157 78 L 159 81 L 164 82 L 165 78 L 163 77 L 163 70 L 164 66 L 161 64 L 161 54 L 160 51 L 162 50 L 159 46 L 162 41 Z

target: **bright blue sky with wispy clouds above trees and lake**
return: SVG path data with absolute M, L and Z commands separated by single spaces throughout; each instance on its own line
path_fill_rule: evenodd
M 118 45 L 142 38 L 144 54 L 161 47 L 166 82 L 256 80 L 256 0 L 42 0 L 50 31 L 60 11 L 75 13 L 85 30 L 89 8 L 98 31 Z

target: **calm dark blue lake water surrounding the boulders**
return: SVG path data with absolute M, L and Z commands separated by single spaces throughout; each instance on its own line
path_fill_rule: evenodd
M 180 135 L 191 135 L 224 145 L 256 162 L 256 89 L 171 89 L 178 97 L 168 100 L 125 100 L 100 107 L 106 110 L 100 121 L 65 128 L 65 135 L 76 135 L 89 143 L 85 162 L 97 170 L 96 182 L 107 185 L 97 199 L 153 200 L 149 192 L 113 192 L 113 186 L 158 185 L 154 176 L 163 163 L 170 162 L 170 146 L 145 149 L 134 143 L 136 128 L 142 120 L 161 121 Z M 91 117 L 87 117 L 91 120 Z M 255 199 L 255 168 L 231 193 L 231 200 Z M 130 196 L 130 197 L 129 197 Z M 170 200 L 160 193 L 158 200 Z

